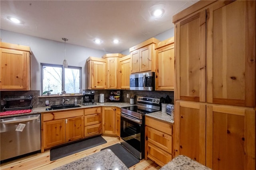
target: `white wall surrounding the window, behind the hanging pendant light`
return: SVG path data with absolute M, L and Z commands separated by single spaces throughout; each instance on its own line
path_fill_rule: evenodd
M 40 63 L 62 64 L 64 60 L 64 41 L 52 41 L 6 30 L 0 30 L 1 41 L 12 44 L 30 46 L 31 58 L 31 90 L 41 89 Z M 106 51 L 90 49 L 66 43 L 66 60 L 70 66 L 82 67 L 82 89 L 86 89 L 86 59 L 105 55 Z

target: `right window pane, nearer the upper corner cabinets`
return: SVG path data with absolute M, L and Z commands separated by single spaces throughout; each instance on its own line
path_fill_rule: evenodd
M 65 68 L 65 91 L 66 93 L 79 93 L 80 69 Z

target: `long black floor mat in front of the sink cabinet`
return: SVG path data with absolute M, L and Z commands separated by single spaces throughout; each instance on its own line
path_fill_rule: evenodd
M 63 158 L 65 156 L 81 152 L 83 150 L 90 149 L 104 143 L 107 143 L 107 141 L 105 141 L 105 139 L 103 139 L 101 136 L 98 136 L 71 143 L 62 147 L 54 148 L 50 150 L 50 160 Z

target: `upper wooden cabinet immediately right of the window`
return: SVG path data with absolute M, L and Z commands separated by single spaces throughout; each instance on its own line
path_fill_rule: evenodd
M 89 57 L 86 63 L 88 89 L 106 89 L 106 60 Z

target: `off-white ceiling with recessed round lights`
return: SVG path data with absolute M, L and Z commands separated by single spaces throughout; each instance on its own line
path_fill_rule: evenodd
M 171 29 L 172 16 L 197 0 L 1 0 L 0 28 L 54 41 L 121 53 Z M 161 17 L 152 10 L 162 8 Z M 21 23 L 12 23 L 16 17 Z M 95 44 L 94 39 L 102 39 Z M 167 37 L 168 38 L 168 37 Z M 112 41 L 119 39 L 119 44 Z

